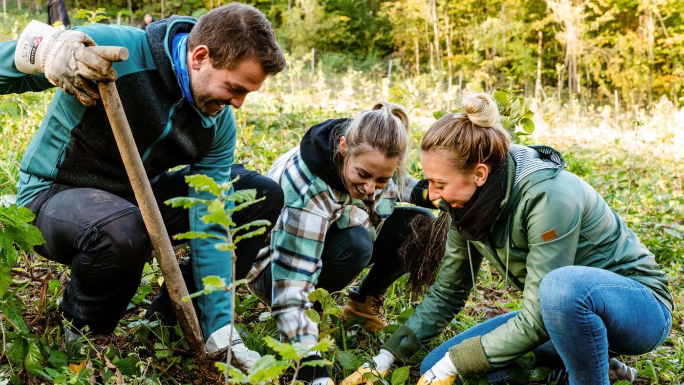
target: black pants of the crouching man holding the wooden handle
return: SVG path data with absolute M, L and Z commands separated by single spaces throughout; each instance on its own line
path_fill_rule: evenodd
M 169 198 L 187 196 L 188 172 L 189 167 L 169 172 L 153 185 L 170 236 L 189 230 L 188 211 L 163 204 Z M 257 219 L 274 223 L 282 209 L 280 186 L 242 165 L 233 165 L 231 178 L 238 175 L 236 190 L 257 189 L 257 198 L 267 199 L 234 213 L 237 226 Z M 152 250 L 135 197 L 54 184 L 27 207 L 36 214 L 34 224 L 45 238 L 36 252 L 71 267 L 71 280 L 60 303 L 64 317 L 75 328 L 87 325 L 97 334 L 113 332 L 140 285 L 142 268 Z M 264 239 L 262 235 L 240 242 L 236 250 L 238 278 L 247 275 Z

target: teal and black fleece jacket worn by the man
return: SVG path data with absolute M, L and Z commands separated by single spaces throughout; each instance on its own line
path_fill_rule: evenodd
M 218 183 L 230 178 L 235 151 L 236 124 L 230 107 L 205 116 L 183 100 L 170 59 L 170 44 L 177 33 L 187 33 L 196 19 L 171 16 L 152 23 L 146 31 L 118 25 L 89 25 L 76 30 L 98 45 L 126 47 L 130 57 L 114 63 L 116 87 L 150 182 L 177 165 L 190 165 L 191 174 L 206 174 Z M 42 91 L 53 87 L 42 74 L 26 75 L 14 66 L 16 40 L 0 43 L 0 93 Z M 130 194 L 131 185 L 98 101 L 86 108 L 76 98 L 57 90 L 36 135 L 21 162 L 18 204 L 26 205 L 53 183 L 94 187 L 112 194 Z M 196 196 L 189 189 L 189 196 Z M 202 193 L 206 194 L 206 193 Z M 203 198 L 209 198 L 204 196 Z M 189 213 L 189 229 L 224 234 L 200 218 L 205 208 Z M 192 264 L 198 287 L 202 278 L 231 277 L 231 258 L 215 248 L 216 239 L 191 242 Z M 205 338 L 230 320 L 231 297 L 219 291 L 198 298 L 200 325 Z

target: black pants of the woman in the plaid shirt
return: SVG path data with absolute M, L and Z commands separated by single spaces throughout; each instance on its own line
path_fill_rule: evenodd
M 434 215 L 421 207 L 397 207 L 382 224 L 375 243 L 371 241 L 368 230 L 361 226 L 339 229 L 331 226 L 323 246 L 323 267 L 318 277 L 317 288 L 328 292 L 340 291 L 347 287 L 358 274 L 373 265 L 363 278 L 358 291 L 367 295 L 382 295 L 390 285 L 406 273 L 408 261 L 417 254 L 408 253 L 402 260 L 397 251 L 411 234 L 411 220 L 424 215 L 431 220 Z M 406 263 L 405 263 L 406 261 Z M 252 290 L 262 298 L 272 296 L 271 265 L 268 265 L 252 282 Z

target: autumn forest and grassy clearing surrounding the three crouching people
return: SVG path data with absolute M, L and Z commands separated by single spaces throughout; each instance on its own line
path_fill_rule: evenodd
M 570 171 L 596 187 L 656 254 L 670 274 L 675 303 L 683 303 L 684 0 L 245 2 L 272 21 L 288 59 L 285 71 L 236 111 L 236 159 L 248 168 L 267 171 L 278 155 L 298 144 L 307 127 L 353 116 L 385 99 L 402 103 L 410 113 L 410 171 L 420 177 L 416 149 L 434 112 L 458 108 L 466 92 L 504 90 L 524 98 L 534 111 L 534 133 L 522 136 L 522 142 L 561 150 Z M 157 20 L 170 14 L 201 16 L 219 5 L 221 0 L 66 1 L 72 25 L 135 27 L 148 12 Z M 46 7 L 44 0 L 3 0 L 0 41 L 16 39 L 32 18 L 47 21 Z M 0 207 L 16 194 L 21 155 L 53 94 L 0 96 Z M 178 328 L 142 318 L 161 283 L 155 261 L 146 265 L 117 329 L 122 357 L 105 362 L 64 347 L 57 302 L 68 269 L 20 249 L 16 263 L 5 259 L 3 265 L 0 253 L 0 384 L 221 380 L 213 362 L 189 358 L 184 341 L 174 337 Z M 334 309 L 344 303 L 345 293 L 319 298 L 328 309 L 320 315 L 321 330 L 335 341 L 325 357 L 333 362 L 337 380 L 376 354 L 381 341 L 410 315 L 420 298 L 410 297 L 405 283 L 401 278 L 387 294 L 391 325 L 379 336 L 339 321 Z M 415 383 L 417 366 L 432 347 L 520 306 L 520 294 L 483 265 L 465 310 L 391 383 Z M 237 313 L 247 345 L 274 354 L 263 341 L 278 338 L 269 309 L 241 289 Z M 682 321 L 677 308 L 662 347 L 624 358 L 639 370 L 640 383 L 684 383 Z M 528 364 L 521 362 L 521 369 Z M 287 375 L 280 381 L 287 382 Z

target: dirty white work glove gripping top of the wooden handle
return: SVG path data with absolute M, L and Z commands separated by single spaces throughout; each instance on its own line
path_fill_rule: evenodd
M 26 74 L 44 74 L 50 83 L 92 107 L 100 97 L 92 80 L 116 81 L 111 62 L 118 58 L 107 57 L 106 50 L 83 32 L 60 31 L 34 20 L 19 36 L 14 65 Z

